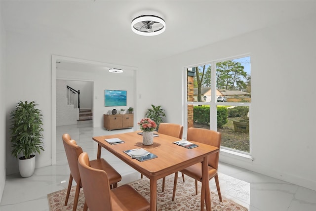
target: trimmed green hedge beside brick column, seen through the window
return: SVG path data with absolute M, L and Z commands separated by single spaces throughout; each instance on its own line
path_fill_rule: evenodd
M 194 122 L 209 125 L 209 107 L 194 106 L 193 108 Z M 217 127 L 221 128 L 227 123 L 227 108 L 217 107 Z

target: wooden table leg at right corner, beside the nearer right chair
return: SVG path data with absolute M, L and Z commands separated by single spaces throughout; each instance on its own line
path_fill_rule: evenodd
M 211 194 L 209 192 L 207 156 L 204 157 L 202 162 L 202 190 L 201 190 L 201 211 L 203 211 L 204 200 L 206 211 L 211 211 Z M 203 207 L 202 207 L 203 205 Z

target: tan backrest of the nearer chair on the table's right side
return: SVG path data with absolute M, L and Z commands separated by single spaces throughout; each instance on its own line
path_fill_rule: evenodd
M 190 127 L 188 128 L 187 140 L 188 141 L 197 141 L 203 144 L 208 144 L 220 148 L 221 146 L 222 134 L 215 130 Z M 211 154 L 207 157 L 208 166 L 217 169 L 219 152 Z

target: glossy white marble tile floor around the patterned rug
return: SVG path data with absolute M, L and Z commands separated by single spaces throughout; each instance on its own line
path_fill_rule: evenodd
M 107 131 L 103 127 L 93 128 L 91 124 L 57 127 L 57 164 L 35 169 L 29 178 L 21 178 L 19 174 L 7 175 L 0 211 L 49 211 L 47 194 L 67 188 L 69 180 L 70 170 L 61 140 L 63 133 L 69 133 L 90 159 L 94 159 L 97 144 L 92 136 L 129 131 L 133 129 Z M 108 151 L 103 149 L 101 156 L 122 175 L 121 184 L 140 178 L 140 173 Z M 219 180 L 222 195 L 249 211 L 316 211 L 316 191 L 298 185 L 225 163 L 219 164 Z M 181 181 L 179 178 L 178 182 Z M 210 180 L 210 188 L 216 192 L 214 179 Z M 172 193 L 172 189 L 165 191 Z

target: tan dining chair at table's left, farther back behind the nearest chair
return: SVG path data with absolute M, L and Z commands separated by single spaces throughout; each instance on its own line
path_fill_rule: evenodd
M 78 157 L 82 153 L 82 148 L 77 145 L 75 140 L 71 139 L 69 134 L 67 133 L 63 134 L 62 138 L 63 138 L 66 157 L 67 157 L 68 165 L 70 169 L 70 176 L 69 176 L 65 206 L 67 206 L 68 204 L 70 190 L 71 190 L 73 179 L 74 179 L 77 183 L 77 186 L 76 186 L 73 211 L 76 211 L 77 205 L 78 205 L 78 199 L 79 199 L 79 192 L 80 192 L 80 188 L 82 187 L 80 173 L 78 169 Z M 106 162 L 104 159 L 101 158 L 101 159 L 90 161 L 90 164 L 95 169 L 103 169 L 108 172 L 111 188 L 116 188 L 118 186 L 118 182 L 122 179 L 121 175 L 108 162 Z

